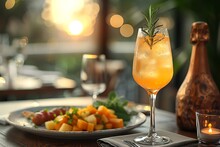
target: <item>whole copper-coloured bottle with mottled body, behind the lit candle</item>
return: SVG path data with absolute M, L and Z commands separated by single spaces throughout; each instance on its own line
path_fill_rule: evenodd
M 176 96 L 177 125 L 183 130 L 196 130 L 196 110 L 220 109 L 219 90 L 208 65 L 206 49 L 208 40 L 207 23 L 194 22 L 190 36 L 192 44 L 190 65 Z

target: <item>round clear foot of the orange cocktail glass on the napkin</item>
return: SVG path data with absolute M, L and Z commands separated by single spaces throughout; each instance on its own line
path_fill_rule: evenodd
M 134 139 L 136 143 L 144 144 L 144 145 L 162 145 L 170 142 L 170 138 L 166 136 L 139 136 Z

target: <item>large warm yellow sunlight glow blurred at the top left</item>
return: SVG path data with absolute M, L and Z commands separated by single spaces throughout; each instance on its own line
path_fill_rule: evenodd
M 42 18 L 73 36 L 88 36 L 94 32 L 100 6 L 96 0 L 47 0 Z

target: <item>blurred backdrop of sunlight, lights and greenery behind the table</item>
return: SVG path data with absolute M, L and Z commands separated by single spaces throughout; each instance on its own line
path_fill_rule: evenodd
M 115 90 L 128 100 L 147 103 L 131 71 L 137 28 L 145 24 L 142 12 L 150 3 L 160 6 L 159 23 L 169 29 L 174 61 L 173 79 L 159 92 L 157 107 L 175 111 L 176 93 L 189 66 L 194 21 L 209 25 L 209 66 L 219 87 L 219 0 L 1 0 L 0 75 L 5 81 L 0 82 L 0 101 L 86 95 L 79 78 L 82 54 L 97 53 L 109 61 L 109 85 L 102 96 Z M 14 83 L 18 75 L 26 78 Z M 9 89 L 11 81 L 15 88 Z M 55 88 L 16 93 L 24 83 Z M 67 88 L 55 93 L 62 85 Z

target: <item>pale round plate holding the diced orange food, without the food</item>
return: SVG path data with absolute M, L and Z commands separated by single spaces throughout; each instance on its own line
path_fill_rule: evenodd
M 58 132 L 53 130 L 47 130 L 44 126 L 35 127 L 30 120 L 22 116 L 23 111 L 37 112 L 40 110 L 52 109 L 57 107 L 61 107 L 61 106 L 46 106 L 46 107 L 44 106 L 44 107 L 31 107 L 31 108 L 21 109 L 10 113 L 9 117 L 7 118 L 7 121 L 9 124 L 13 125 L 14 127 L 32 134 L 51 137 L 51 138 L 65 138 L 65 139 L 100 138 L 100 137 L 122 134 L 140 126 L 146 121 L 146 116 L 143 113 L 139 112 L 137 115 L 132 116 L 130 122 L 128 122 L 128 124 L 124 128 L 100 130 L 94 132 L 87 132 L 87 131 Z M 69 106 L 65 106 L 65 107 L 69 107 Z

